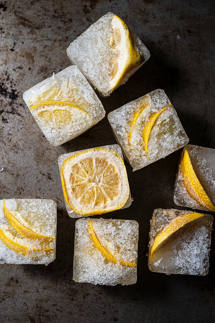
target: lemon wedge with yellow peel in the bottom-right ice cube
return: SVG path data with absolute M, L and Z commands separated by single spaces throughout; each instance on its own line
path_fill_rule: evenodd
M 168 225 L 166 225 L 158 234 L 156 234 L 154 243 L 151 247 L 150 258 L 161 243 L 165 242 L 173 233 L 182 228 L 185 224 L 197 220 L 202 216 L 205 215 L 201 213 L 191 213 L 177 216 L 171 220 Z

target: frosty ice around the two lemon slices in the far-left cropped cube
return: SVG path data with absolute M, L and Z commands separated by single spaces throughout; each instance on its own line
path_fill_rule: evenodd
M 4 264 L 45 264 L 48 265 L 54 261 L 56 253 L 56 226 L 57 226 L 57 205 L 53 200 L 40 200 L 40 199 L 8 199 L 0 200 L 0 225 L 7 225 L 15 233 L 15 236 L 23 239 L 26 245 L 33 244 L 40 246 L 36 239 L 28 239 L 21 234 L 15 232 L 10 226 L 3 212 L 3 201 L 6 208 L 11 213 L 16 214 L 19 212 L 22 218 L 34 228 L 37 228 L 41 234 L 48 234 L 55 237 L 49 247 L 54 249 L 53 253 L 49 256 L 40 253 L 41 257 L 32 258 L 17 254 L 14 250 L 9 249 L 0 240 L 0 263 Z

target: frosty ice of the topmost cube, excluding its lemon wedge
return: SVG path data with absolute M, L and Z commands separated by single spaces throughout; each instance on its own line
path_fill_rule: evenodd
M 67 55 L 72 63 L 80 68 L 89 82 L 91 82 L 103 96 L 110 95 L 109 80 L 112 61 L 110 39 L 113 36 L 111 25 L 113 16 L 114 14 L 111 12 L 102 16 L 67 48 Z M 142 63 L 144 64 L 150 57 L 149 50 L 135 33 L 132 33 L 132 37 L 136 49 L 142 53 L 145 58 L 145 61 Z M 141 66 L 142 65 L 132 69 L 122 80 L 121 84 L 125 83 Z

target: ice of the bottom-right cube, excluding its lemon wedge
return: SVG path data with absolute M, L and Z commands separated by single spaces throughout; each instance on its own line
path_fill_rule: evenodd
M 150 221 L 149 255 L 156 235 L 165 226 L 170 225 L 173 219 L 183 215 L 186 216 L 186 214 L 196 213 L 175 209 L 154 210 Z M 200 214 L 198 215 L 200 216 Z M 158 245 L 152 256 L 149 257 L 149 269 L 165 274 L 207 275 L 212 224 L 212 215 L 202 214 L 199 218 L 175 231 L 160 246 Z M 157 240 L 159 241 L 159 239 Z

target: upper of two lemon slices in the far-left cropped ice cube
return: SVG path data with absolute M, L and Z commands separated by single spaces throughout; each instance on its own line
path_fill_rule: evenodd
M 36 233 L 37 229 L 34 227 L 27 228 L 24 226 L 18 219 L 6 208 L 5 202 L 3 202 L 3 211 L 5 214 L 5 218 L 9 222 L 9 224 L 20 234 L 22 234 L 24 237 L 29 239 L 38 239 L 43 240 L 43 242 L 51 242 L 54 237 L 42 235 L 39 233 Z M 21 221 L 24 221 L 24 219 L 21 217 Z M 24 221 L 25 222 L 25 221 Z M 29 225 L 30 226 L 30 225 Z

